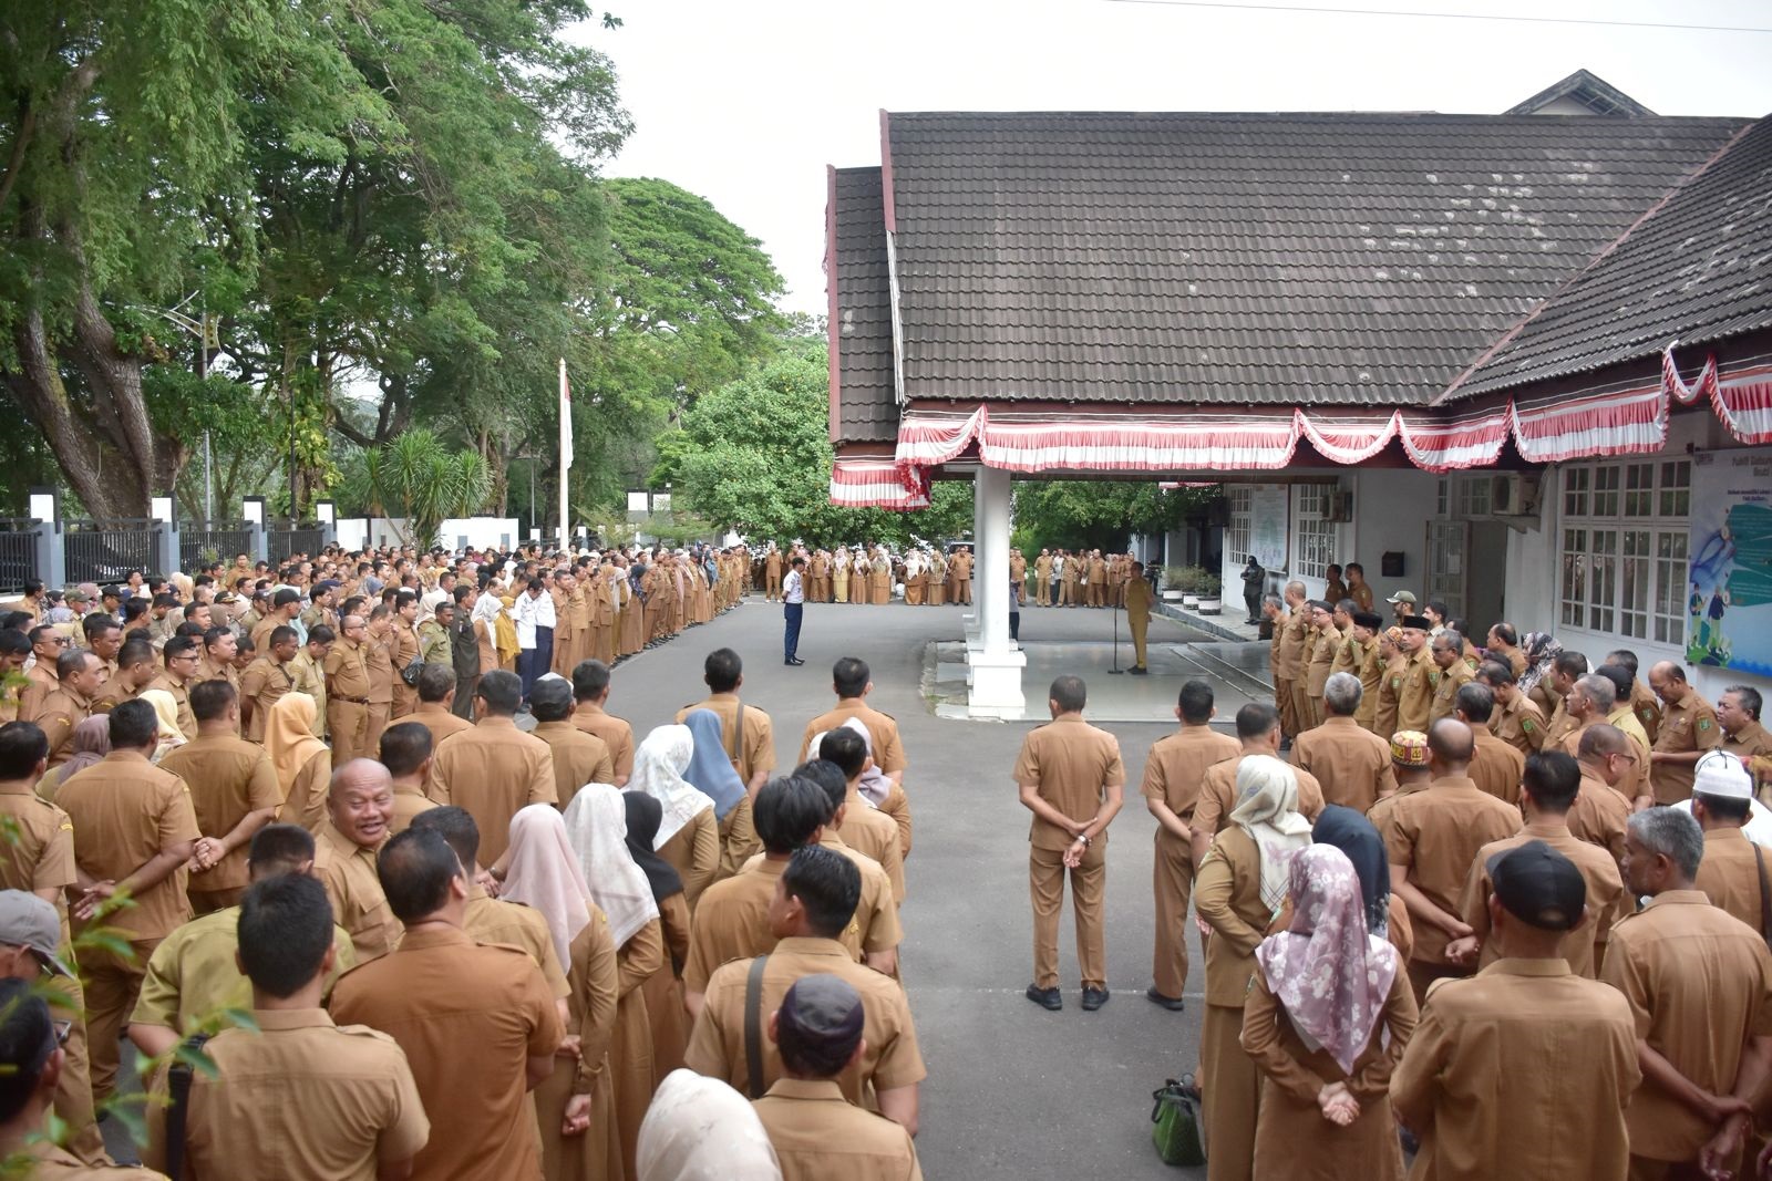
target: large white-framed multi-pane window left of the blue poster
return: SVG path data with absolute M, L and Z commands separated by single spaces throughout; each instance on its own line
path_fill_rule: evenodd
M 1687 459 L 1565 467 L 1558 621 L 1683 645 L 1690 508 Z

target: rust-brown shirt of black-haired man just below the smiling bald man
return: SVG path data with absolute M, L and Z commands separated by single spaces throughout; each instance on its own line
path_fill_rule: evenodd
M 565 1030 L 548 983 L 516 947 L 478 946 L 427 924 L 383 961 L 346 972 L 333 1018 L 390 1034 L 406 1050 L 431 1117 L 413 1181 L 530 1181 L 540 1174 L 526 1064 Z M 464 1054 L 473 1085 L 462 1085 Z

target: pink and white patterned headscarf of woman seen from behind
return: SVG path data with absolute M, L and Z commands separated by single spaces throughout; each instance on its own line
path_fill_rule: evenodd
M 1267 988 L 1311 1048 L 1348 1075 L 1396 979 L 1396 949 L 1366 933 L 1354 862 L 1333 845 L 1292 859 L 1292 926 L 1255 949 Z

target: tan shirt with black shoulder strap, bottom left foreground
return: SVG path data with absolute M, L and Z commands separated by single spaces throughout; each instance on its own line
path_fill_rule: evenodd
M 259 1032 L 223 1030 L 206 1046 L 220 1077 L 191 1080 L 186 1142 L 202 1177 L 374 1181 L 431 1139 L 399 1043 L 324 1009 L 255 1009 Z

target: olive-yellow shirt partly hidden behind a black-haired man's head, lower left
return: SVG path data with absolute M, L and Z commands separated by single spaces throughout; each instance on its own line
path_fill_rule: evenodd
M 239 907 L 225 907 L 191 919 L 159 940 L 147 960 L 142 992 L 131 1022 L 165 1025 L 179 1034 L 193 1034 L 198 1025 L 225 1009 L 252 1007 L 252 981 L 234 961 L 239 951 Z M 356 965 L 351 933 L 333 924 L 337 963 L 326 976 L 326 992 L 338 976 Z M 223 1027 L 232 1022 L 223 1020 Z

